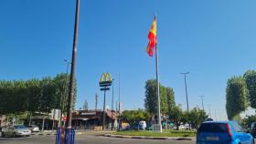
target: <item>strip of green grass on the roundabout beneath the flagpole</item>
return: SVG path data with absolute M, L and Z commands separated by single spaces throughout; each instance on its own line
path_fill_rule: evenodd
M 157 133 L 148 130 L 133 130 L 133 131 L 118 131 L 113 134 L 122 136 L 144 136 L 144 137 L 195 137 L 196 132 L 187 130 L 163 130 L 162 133 Z

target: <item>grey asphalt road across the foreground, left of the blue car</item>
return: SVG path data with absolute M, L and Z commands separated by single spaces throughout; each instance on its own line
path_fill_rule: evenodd
M 30 138 L 0 138 L 0 144 L 54 144 L 53 136 L 33 136 Z M 155 139 L 116 139 L 102 136 L 78 136 L 76 144 L 195 144 L 191 140 L 155 140 Z

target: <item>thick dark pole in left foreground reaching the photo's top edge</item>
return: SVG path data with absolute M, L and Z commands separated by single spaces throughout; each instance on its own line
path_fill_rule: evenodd
M 72 50 L 72 64 L 71 64 L 70 85 L 69 85 L 69 105 L 68 105 L 69 109 L 68 109 L 68 125 L 67 125 L 67 129 L 69 129 L 69 131 L 72 127 L 71 121 L 72 121 L 72 111 L 73 111 L 74 79 L 75 79 L 75 70 L 76 70 L 78 32 L 79 32 L 79 12 L 80 12 L 80 0 L 77 0 L 75 27 L 74 27 L 74 39 L 73 39 L 73 50 Z

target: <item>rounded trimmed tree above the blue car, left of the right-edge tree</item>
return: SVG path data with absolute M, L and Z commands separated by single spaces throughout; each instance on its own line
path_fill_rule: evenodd
M 240 114 L 248 108 L 248 89 L 243 77 L 231 77 L 226 88 L 226 110 L 228 118 Z

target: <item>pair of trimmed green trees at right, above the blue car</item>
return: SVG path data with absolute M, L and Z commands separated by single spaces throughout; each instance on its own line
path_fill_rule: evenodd
M 226 110 L 233 119 L 246 108 L 256 108 L 256 71 L 248 70 L 243 76 L 230 77 L 226 87 Z

